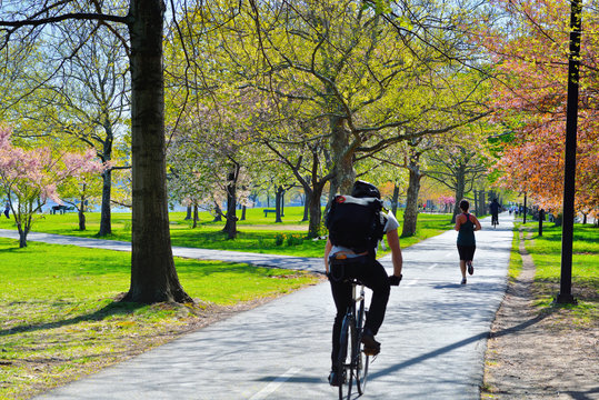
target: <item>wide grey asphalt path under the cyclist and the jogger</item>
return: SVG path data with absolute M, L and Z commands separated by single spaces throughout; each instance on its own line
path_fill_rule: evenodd
M 481 221 L 466 286 L 459 284 L 457 232 L 403 250 L 405 278 L 391 290 L 363 399 L 480 399 L 487 338 L 507 283 L 508 218 L 497 229 L 490 218 Z M 252 257 L 266 256 L 239 256 Z M 273 267 L 284 264 L 286 258 L 273 259 Z M 294 267 L 322 269 L 319 259 L 303 261 L 309 267 Z M 382 262 L 391 271 L 390 259 Z M 327 383 L 333 314 L 328 283 L 309 287 L 37 399 L 335 399 L 337 389 Z

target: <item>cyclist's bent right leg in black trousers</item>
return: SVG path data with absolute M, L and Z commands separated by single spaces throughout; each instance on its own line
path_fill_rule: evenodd
M 375 336 L 378 333 L 385 312 L 387 302 L 389 301 L 389 276 L 380 262 L 373 261 L 370 266 L 363 266 L 359 271 L 358 277 L 368 288 L 372 290 L 372 299 L 368 316 L 366 318 L 365 330 L 368 329 Z

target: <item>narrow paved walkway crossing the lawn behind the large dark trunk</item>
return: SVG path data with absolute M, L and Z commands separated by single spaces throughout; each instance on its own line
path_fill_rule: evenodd
M 9 238 L 19 240 L 17 230 L 0 229 L 0 238 Z M 38 241 L 51 244 L 70 244 L 91 249 L 106 249 L 117 251 L 131 251 L 131 243 L 118 240 L 79 238 L 64 234 L 37 233 L 30 232 L 27 236 L 28 241 Z M 242 251 L 227 250 L 210 250 L 194 249 L 183 247 L 172 247 L 172 253 L 176 257 L 212 260 L 212 261 L 230 261 L 249 263 L 252 266 L 263 266 L 273 268 L 286 268 L 293 270 L 303 270 L 312 272 L 322 272 L 325 267 L 321 258 L 278 256 L 278 254 L 260 254 Z

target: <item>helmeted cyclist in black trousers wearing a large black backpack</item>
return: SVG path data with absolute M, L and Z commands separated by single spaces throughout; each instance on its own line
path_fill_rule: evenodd
M 372 290 L 362 343 L 365 353 L 376 356 L 380 351 L 380 343 L 375 340 L 375 336 L 385 319 L 390 286 L 398 286 L 401 280 L 402 258 L 397 232 L 399 222 L 391 212 L 382 212 L 380 192 L 371 183 L 356 181 L 351 196 L 336 196 L 326 222 L 329 240 L 325 249 L 325 269 L 337 309 L 332 327 L 329 383 L 339 386 L 342 378 L 337 371 L 337 360 L 341 323 L 349 303 L 353 301 L 349 279 L 357 278 Z M 383 234 L 387 234 L 391 248 L 393 274 L 390 277 L 376 259 Z

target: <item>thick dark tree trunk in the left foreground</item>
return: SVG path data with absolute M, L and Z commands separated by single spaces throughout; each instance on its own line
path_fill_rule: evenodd
M 162 0 L 131 0 L 131 287 L 123 301 L 193 301 L 174 269 L 164 151 Z

